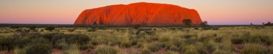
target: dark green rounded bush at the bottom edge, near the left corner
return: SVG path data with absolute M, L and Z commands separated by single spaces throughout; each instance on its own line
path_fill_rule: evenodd
M 24 50 L 27 54 L 51 54 L 52 46 L 48 44 L 33 44 Z

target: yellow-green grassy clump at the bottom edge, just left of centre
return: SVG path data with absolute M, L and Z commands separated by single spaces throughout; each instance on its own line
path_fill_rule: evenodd
M 95 51 L 95 54 L 118 54 L 119 49 L 113 47 L 99 47 Z

